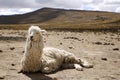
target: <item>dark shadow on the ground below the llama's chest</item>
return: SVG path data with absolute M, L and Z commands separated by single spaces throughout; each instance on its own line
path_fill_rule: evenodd
M 31 80 L 54 80 L 53 78 L 42 73 L 24 73 L 24 74 L 31 78 Z

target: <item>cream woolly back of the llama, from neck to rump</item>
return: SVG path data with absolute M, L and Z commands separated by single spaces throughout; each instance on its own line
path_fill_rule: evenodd
M 58 64 L 65 62 L 67 58 L 75 58 L 73 53 L 67 52 L 65 50 L 52 48 L 52 47 L 45 47 L 43 49 L 43 58 L 45 60 L 56 60 Z

